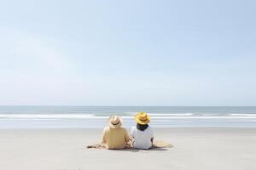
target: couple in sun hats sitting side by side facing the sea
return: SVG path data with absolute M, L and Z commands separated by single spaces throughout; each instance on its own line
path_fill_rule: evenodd
M 131 127 L 131 137 L 122 126 L 120 116 L 110 116 L 108 127 L 102 133 L 102 146 L 108 150 L 120 150 L 125 148 L 135 148 L 147 150 L 153 147 L 153 132 L 148 126 L 150 116 L 145 112 L 138 113 L 134 120 L 137 126 Z

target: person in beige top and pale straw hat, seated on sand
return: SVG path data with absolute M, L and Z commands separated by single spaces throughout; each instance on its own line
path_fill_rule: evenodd
M 105 127 L 102 133 L 102 144 L 108 150 L 125 149 L 131 142 L 126 129 L 122 126 L 122 119 L 119 116 L 110 116 L 108 118 L 108 127 Z

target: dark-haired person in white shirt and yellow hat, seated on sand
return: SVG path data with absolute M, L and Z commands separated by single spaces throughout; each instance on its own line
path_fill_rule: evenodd
M 137 122 L 137 125 L 131 127 L 133 148 L 143 150 L 152 148 L 154 135 L 151 127 L 148 126 L 150 116 L 145 112 L 140 112 L 134 117 L 134 120 Z

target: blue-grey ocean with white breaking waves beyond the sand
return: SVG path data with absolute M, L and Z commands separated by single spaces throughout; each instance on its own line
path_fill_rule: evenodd
M 131 127 L 138 111 L 152 127 L 256 127 L 256 106 L 0 106 L 0 128 L 102 128 L 112 115 Z

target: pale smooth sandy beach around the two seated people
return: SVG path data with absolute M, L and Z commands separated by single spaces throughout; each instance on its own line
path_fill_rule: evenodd
M 4 170 L 246 169 L 256 167 L 256 128 L 159 128 L 157 150 L 96 150 L 102 129 L 1 129 Z

